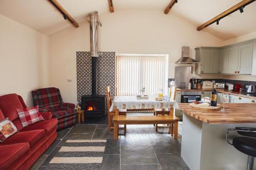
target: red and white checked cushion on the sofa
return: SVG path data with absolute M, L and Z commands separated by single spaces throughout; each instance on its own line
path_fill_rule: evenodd
M 18 117 L 23 127 L 45 120 L 38 111 L 38 106 L 17 109 Z

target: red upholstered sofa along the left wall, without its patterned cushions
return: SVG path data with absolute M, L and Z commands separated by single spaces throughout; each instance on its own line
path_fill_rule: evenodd
M 49 112 L 40 113 L 44 121 L 23 128 L 16 111 L 23 108 L 27 106 L 21 96 L 0 96 L 0 120 L 9 117 L 18 130 L 0 142 L 0 169 L 29 169 L 57 137 L 58 120 Z

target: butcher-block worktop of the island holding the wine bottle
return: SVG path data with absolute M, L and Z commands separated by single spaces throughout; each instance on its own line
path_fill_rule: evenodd
M 207 124 L 240 124 L 256 123 L 256 104 L 228 103 L 226 111 L 204 111 L 189 106 L 188 103 L 180 103 L 179 108 Z

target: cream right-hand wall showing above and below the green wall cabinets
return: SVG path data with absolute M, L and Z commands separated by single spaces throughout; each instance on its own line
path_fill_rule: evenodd
M 256 38 L 256 31 L 236 37 L 236 38 L 232 38 L 232 39 L 223 41 L 221 46 L 238 43 L 238 42 L 243 42 L 243 41 L 251 40 L 254 38 Z M 256 76 L 250 76 L 250 75 L 223 75 L 222 78 L 230 79 L 230 80 L 256 81 Z

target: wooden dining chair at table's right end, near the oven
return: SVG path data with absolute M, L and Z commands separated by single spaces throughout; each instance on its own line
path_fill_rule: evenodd
M 169 88 L 169 96 L 170 100 L 176 100 L 176 92 L 177 92 L 177 87 L 175 86 L 170 86 Z M 154 108 L 154 115 L 169 115 L 170 113 L 174 114 L 174 109 L 173 108 L 165 108 L 165 109 L 155 109 Z M 158 131 L 158 124 L 156 126 L 156 131 Z M 162 126 L 162 128 L 169 128 L 169 133 L 172 134 L 173 136 L 173 129 L 174 129 L 174 124 L 169 124 L 167 126 Z

